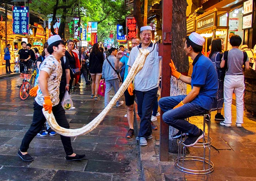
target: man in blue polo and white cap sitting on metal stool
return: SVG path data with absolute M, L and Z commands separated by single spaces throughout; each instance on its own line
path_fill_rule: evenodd
M 195 32 L 186 38 L 184 51 L 193 60 L 191 77 L 177 72 L 172 60 L 170 63 L 172 76 L 190 84 L 191 92 L 188 95 L 163 97 L 158 102 L 164 112 L 163 121 L 179 130 L 172 138 L 188 135 L 184 141 L 185 146 L 195 145 L 199 139 L 203 138 L 204 134 L 201 129 L 186 121 L 185 118 L 202 115 L 211 110 L 218 91 L 217 72 L 211 60 L 201 53 L 203 44 L 204 38 Z

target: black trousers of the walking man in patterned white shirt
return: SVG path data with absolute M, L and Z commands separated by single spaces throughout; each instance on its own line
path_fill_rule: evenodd
M 34 115 L 33 115 L 33 121 L 30 125 L 29 130 L 26 132 L 24 138 L 22 139 L 22 143 L 20 145 L 20 151 L 26 152 L 29 149 L 29 144 L 33 140 L 33 138 L 37 135 L 39 131 L 41 131 L 42 126 L 45 123 L 45 116 L 42 112 L 42 106 L 37 104 L 34 101 Z M 63 107 L 61 106 L 61 103 L 59 103 L 56 106 L 52 107 L 53 115 L 56 119 L 56 122 L 63 128 L 69 128 L 69 124 L 67 121 L 67 118 L 65 116 L 65 111 Z M 67 136 L 60 135 L 61 142 L 63 144 L 65 153 L 67 155 L 73 154 L 73 149 L 71 145 L 71 139 Z

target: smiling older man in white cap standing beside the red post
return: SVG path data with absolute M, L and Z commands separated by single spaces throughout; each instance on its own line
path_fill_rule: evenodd
M 139 49 L 148 49 L 150 51 L 145 64 L 140 72 L 134 78 L 135 94 L 138 100 L 138 115 L 140 116 L 140 130 L 138 137 L 140 146 L 147 145 L 147 139 L 152 139 L 152 128 L 157 127 L 151 122 L 151 113 L 153 104 L 157 97 L 159 85 L 159 76 L 161 75 L 161 57 L 158 56 L 158 47 L 151 42 L 152 27 L 143 26 L 140 28 L 141 43 L 134 47 L 129 55 L 127 65 L 128 71 L 131 69 L 135 59 L 139 54 Z M 129 85 L 128 92 L 132 95 L 132 84 Z

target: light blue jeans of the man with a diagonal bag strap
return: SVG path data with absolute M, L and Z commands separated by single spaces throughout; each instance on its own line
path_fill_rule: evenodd
M 106 80 L 106 90 L 105 90 L 105 99 L 104 99 L 104 106 L 106 107 L 109 104 L 109 97 L 110 97 L 110 90 L 112 86 L 114 87 L 115 94 L 119 89 L 119 79 L 115 78 L 112 80 Z M 116 101 L 116 105 L 120 104 L 120 100 Z

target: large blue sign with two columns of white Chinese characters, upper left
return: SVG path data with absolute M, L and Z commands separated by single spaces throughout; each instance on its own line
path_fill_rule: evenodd
M 12 7 L 12 33 L 29 34 L 29 7 Z

